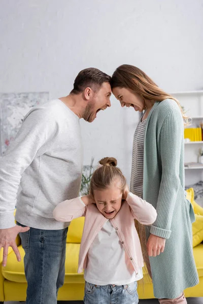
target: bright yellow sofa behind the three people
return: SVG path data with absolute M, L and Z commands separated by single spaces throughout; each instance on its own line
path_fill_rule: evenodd
M 65 280 L 59 289 L 58 300 L 82 300 L 84 295 L 83 274 L 77 273 L 78 256 L 84 218 L 80 217 L 72 221 L 66 241 Z M 16 240 L 21 257 L 24 250 L 20 244 L 20 238 Z M 199 275 L 199 284 L 185 290 L 186 297 L 203 297 L 203 244 L 193 248 L 195 263 Z M 18 262 L 16 256 L 9 248 L 8 262 L 2 267 L 3 250 L 0 251 L 0 302 L 24 301 L 26 298 L 26 280 L 24 275 L 23 259 Z M 139 284 L 138 293 L 141 299 L 153 298 L 153 286 L 149 275 L 144 270 L 144 284 Z

